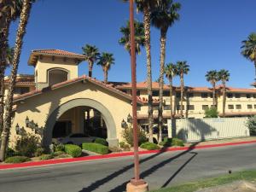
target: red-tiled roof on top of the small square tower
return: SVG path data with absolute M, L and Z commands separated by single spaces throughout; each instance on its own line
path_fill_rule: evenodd
M 68 57 L 68 58 L 78 59 L 78 61 L 83 61 L 85 59 L 84 55 L 69 52 L 67 50 L 61 50 L 61 49 L 34 49 L 34 50 L 32 50 L 31 55 L 29 56 L 29 59 L 28 59 L 27 63 L 29 65 L 35 66 L 37 64 L 39 55 L 65 56 L 65 57 Z

